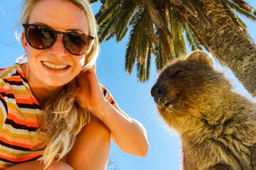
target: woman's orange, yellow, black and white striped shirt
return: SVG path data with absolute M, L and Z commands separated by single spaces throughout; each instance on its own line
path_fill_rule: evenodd
M 104 86 L 102 92 L 118 108 Z M 41 158 L 43 148 L 36 146 L 42 141 L 35 136 L 42 114 L 21 66 L 14 64 L 0 69 L 0 169 Z

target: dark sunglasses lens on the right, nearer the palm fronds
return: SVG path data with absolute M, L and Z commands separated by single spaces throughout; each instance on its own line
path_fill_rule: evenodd
M 64 38 L 65 47 L 73 55 L 83 55 L 90 47 L 91 40 L 80 33 L 66 33 Z

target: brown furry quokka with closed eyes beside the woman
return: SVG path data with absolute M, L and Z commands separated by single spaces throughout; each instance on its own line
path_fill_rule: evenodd
M 184 170 L 256 169 L 256 104 L 233 91 L 206 53 L 165 67 L 151 95 L 181 135 Z

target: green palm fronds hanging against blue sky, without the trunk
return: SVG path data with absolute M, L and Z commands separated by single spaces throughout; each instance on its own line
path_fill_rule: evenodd
M 91 3 L 99 0 L 90 0 Z M 191 50 L 202 50 L 204 43 L 188 26 L 181 9 L 196 16 L 205 26 L 213 21 L 193 0 L 100 0 L 102 6 L 96 18 L 100 26 L 99 37 L 109 40 L 116 35 L 117 41 L 129 32 L 125 55 L 125 69 L 132 73 L 137 64 L 139 81 L 149 79 L 151 55 L 155 56 L 156 70 L 166 63 L 186 54 L 185 36 Z M 245 23 L 235 12 L 255 21 L 255 10 L 243 0 L 215 0 L 215 6 L 225 8 L 233 22 L 241 28 Z

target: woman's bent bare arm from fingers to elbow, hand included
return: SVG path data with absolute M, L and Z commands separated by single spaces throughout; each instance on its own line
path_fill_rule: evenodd
M 141 157 L 146 156 L 149 149 L 146 130 L 139 122 L 105 101 L 95 71 L 88 69 L 87 72 L 81 73 L 78 82 L 79 91 L 76 101 L 79 105 L 87 108 L 107 125 L 113 140 L 124 152 Z

